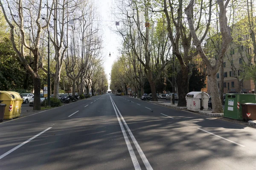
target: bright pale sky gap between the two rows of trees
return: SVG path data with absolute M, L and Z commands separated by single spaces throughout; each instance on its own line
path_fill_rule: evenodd
M 108 75 L 108 84 L 110 83 L 111 66 L 113 62 L 119 57 L 118 48 L 121 44 L 121 37 L 114 31 L 116 28 L 114 14 L 115 0 L 95 0 L 95 4 L 98 6 L 99 14 L 102 21 L 102 33 L 103 33 L 103 55 L 104 55 L 104 68 L 105 73 Z M 111 53 L 111 57 L 109 57 Z M 109 87 L 108 87 L 109 88 Z M 108 89 L 110 90 L 110 89 Z

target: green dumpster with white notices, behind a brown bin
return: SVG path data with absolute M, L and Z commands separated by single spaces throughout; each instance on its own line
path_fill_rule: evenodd
M 226 94 L 224 117 L 242 120 L 242 103 L 256 103 L 255 94 Z

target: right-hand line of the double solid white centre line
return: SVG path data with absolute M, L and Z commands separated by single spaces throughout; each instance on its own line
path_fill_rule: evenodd
M 111 97 L 111 100 L 113 100 L 112 97 Z M 142 159 L 142 161 L 143 161 L 143 163 L 144 163 L 146 169 L 147 169 L 147 170 L 153 170 L 153 168 L 151 167 L 150 163 L 148 162 L 148 159 L 146 158 L 145 154 L 143 153 L 142 149 L 140 148 L 140 145 L 138 144 L 138 142 L 137 142 L 137 140 L 135 139 L 134 135 L 131 133 L 130 128 L 129 128 L 128 125 L 126 124 L 125 119 L 123 118 L 122 114 L 121 114 L 120 111 L 118 110 L 118 108 L 117 108 L 115 102 L 112 101 L 112 104 L 115 105 L 116 111 L 119 113 L 119 116 L 121 117 L 123 124 L 125 125 L 125 127 L 126 127 L 128 133 L 129 133 L 129 135 L 131 136 L 131 139 L 132 139 L 132 141 L 134 142 L 134 145 L 135 145 L 135 147 L 136 147 L 138 153 L 140 154 L 140 158 Z

